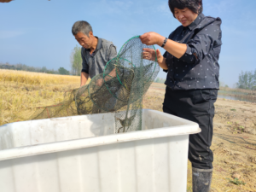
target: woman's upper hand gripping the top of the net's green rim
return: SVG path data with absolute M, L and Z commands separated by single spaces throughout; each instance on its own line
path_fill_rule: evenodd
M 165 37 L 161 36 L 156 32 L 146 32 L 140 36 L 140 39 L 143 44 L 147 44 L 147 45 L 158 44 L 159 46 L 161 46 L 165 41 Z

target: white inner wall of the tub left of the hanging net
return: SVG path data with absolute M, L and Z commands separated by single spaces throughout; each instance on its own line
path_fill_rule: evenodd
M 111 135 L 113 132 L 113 113 L 18 122 L 0 127 L 0 151 L 42 143 L 100 137 Z

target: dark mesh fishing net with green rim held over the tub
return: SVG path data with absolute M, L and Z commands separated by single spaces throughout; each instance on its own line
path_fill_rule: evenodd
M 141 130 L 143 96 L 159 73 L 156 61 L 143 59 L 144 48 L 154 46 L 139 36 L 129 39 L 90 84 L 70 91 L 63 102 L 37 108 L 30 119 L 114 113 L 116 133 Z

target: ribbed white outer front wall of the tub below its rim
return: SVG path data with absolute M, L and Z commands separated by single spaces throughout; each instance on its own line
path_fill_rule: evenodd
M 189 136 L 0 161 L 5 192 L 185 192 Z

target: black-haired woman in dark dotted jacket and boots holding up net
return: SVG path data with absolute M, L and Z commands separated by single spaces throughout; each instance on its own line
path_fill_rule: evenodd
M 212 181 L 212 119 L 219 89 L 218 57 L 221 20 L 202 14 L 202 0 L 169 0 L 174 18 L 182 25 L 169 38 L 146 32 L 143 44 L 166 49 L 144 49 L 143 58 L 155 60 L 167 73 L 163 111 L 198 123 L 201 133 L 189 136 L 193 191 L 207 192 Z

